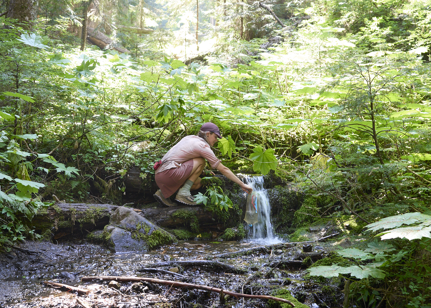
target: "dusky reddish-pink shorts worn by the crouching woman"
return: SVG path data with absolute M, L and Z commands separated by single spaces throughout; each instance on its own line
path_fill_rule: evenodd
M 157 186 L 165 198 L 172 196 L 190 177 L 193 170 L 193 159 L 183 162 L 178 168 L 170 168 L 156 174 Z

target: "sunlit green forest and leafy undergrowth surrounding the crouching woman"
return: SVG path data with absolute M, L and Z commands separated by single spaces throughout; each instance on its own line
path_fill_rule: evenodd
M 371 269 L 318 274 L 350 273 L 365 306 L 431 307 L 431 1 L 3 0 L 0 12 L 0 246 L 40 237 L 28 221 L 53 193 L 121 203 L 131 166 L 150 185 L 154 162 L 212 121 L 223 164 L 309 196 L 278 232 L 415 224 L 345 255 Z

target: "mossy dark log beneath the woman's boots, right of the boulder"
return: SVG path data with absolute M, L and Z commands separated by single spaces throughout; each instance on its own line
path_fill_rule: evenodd
M 188 213 L 186 213 L 186 211 Z M 175 212 L 177 214 L 175 215 Z M 179 215 L 183 213 L 184 215 Z M 187 214 L 187 215 L 186 215 Z M 205 211 L 202 206 L 172 206 L 169 208 L 143 208 L 142 215 L 154 221 L 162 227 L 174 229 L 175 227 L 187 226 L 192 220 L 197 219 L 199 226 L 217 227 L 218 222 L 212 212 Z M 196 218 L 195 218 L 196 217 Z M 187 226 L 188 227 L 188 226 Z

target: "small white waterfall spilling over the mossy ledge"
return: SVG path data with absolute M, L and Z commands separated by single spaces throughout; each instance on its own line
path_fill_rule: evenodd
M 249 227 L 250 239 L 258 240 L 259 242 L 265 242 L 267 244 L 280 243 L 277 237 L 274 237 L 272 233 L 271 224 L 271 205 L 269 204 L 268 193 L 266 189 L 263 188 L 263 176 L 248 176 L 244 175 L 244 180 L 253 191 L 257 193 L 259 198 L 258 203 L 258 219 L 253 227 Z

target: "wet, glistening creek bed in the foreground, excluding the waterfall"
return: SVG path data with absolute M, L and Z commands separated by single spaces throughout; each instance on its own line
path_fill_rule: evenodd
M 302 271 L 275 269 L 270 279 L 263 279 L 259 275 L 255 277 L 254 284 L 244 282 L 253 274 L 265 274 L 270 269 L 277 254 L 285 253 L 278 249 L 276 252 L 256 252 L 250 255 L 232 258 L 218 259 L 223 263 L 244 270 L 244 274 L 232 274 L 205 266 L 182 267 L 178 266 L 179 274 L 184 278 L 178 278 L 170 274 L 139 272 L 141 268 L 155 268 L 154 262 L 159 261 L 183 261 L 183 260 L 212 260 L 214 256 L 234 252 L 241 249 L 261 246 L 262 242 L 244 240 L 240 242 L 227 241 L 180 241 L 178 243 L 163 246 L 159 249 L 147 252 L 122 252 L 112 253 L 101 246 L 78 241 L 76 243 L 34 243 L 26 242 L 19 246 L 21 250 L 14 249 L 12 252 L 3 254 L 0 259 L 0 307 L 74 307 L 77 305 L 74 294 L 61 292 L 59 290 L 43 286 L 42 281 L 64 283 L 70 286 L 97 290 L 112 290 L 113 295 L 107 296 L 104 301 L 97 302 L 100 295 L 90 294 L 87 298 L 93 302 L 92 307 L 147 307 L 155 302 L 171 303 L 170 307 L 187 308 L 198 304 L 201 307 L 211 306 L 219 301 L 217 293 L 202 290 L 170 289 L 168 286 L 148 285 L 148 288 L 139 292 L 146 293 L 145 299 L 131 296 L 126 300 L 119 294 L 123 292 L 133 293 L 132 283 L 121 283 L 120 289 L 108 288 L 106 282 L 81 282 L 83 276 L 137 276 L 153 277 L 163 280 L 179 280 L 188 283 L 213 286 L 225 290 L 244 292 L 248 294 L 269 295 L 274 286 L 281 287 L 290 285 L 298 288 L 303 281 Z M 291 248 L 291 251 L 298 247 Z M 288 252 L 287 252 L 288 253 Z M 168 270 L 172 266 L 158 267 Z M 259 279 L 262 278 L 262 279 Z M 268 277 L 267 277 L 268 278 Z M 257 283 L 256 283 L 257 282 Z M 142 289 L 142 288 L 141 288 Z M 103 292 L 105 292 L 103 291 Z M 169 291 L 169 292 L 168 292 Z M 101 291 L 100 291 L 101 292 Z M 102 292 L 102 293 L 103 293 Z M 108 292 L 108 291 L 106 291 Z M 138 291 L 134 292 L 139 293 Z M 263 292 L 263 293 L 262 293 Z M 142 297 L 142 296 L 141 296 Z M 157 300 L 154 301 L 153 299 Z M 307 301 L 305 301 L 307 302 Z M 228 306 L 234 307 L 266 307 L 265 300 L 243 299 L 227 302 Z M 315 304 L 308 304 L 317 307 Z M 197 307 L 198 307 L 197 306 Z M 78 305 L 78 307 L 81 307 Z M 167 306 L 166 306 L 167 307 Z

